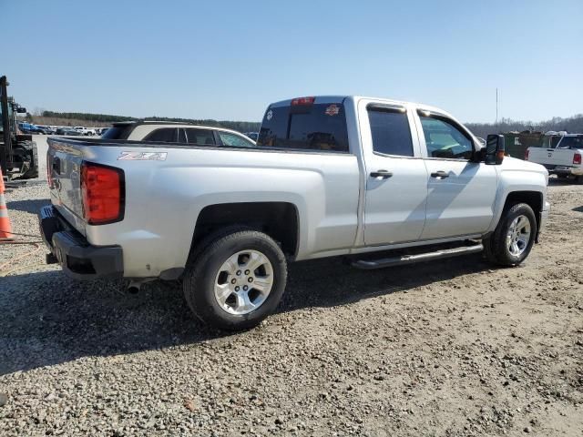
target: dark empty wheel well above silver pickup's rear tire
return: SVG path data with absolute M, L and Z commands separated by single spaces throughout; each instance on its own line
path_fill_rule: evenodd
M 240 202 L 210 205 L 200 211 L 192 247 L 211 232 L 233 225 L 248 226 L 266 233 L 294 257 L 298 246 L 298 212 L 287 202 Z

